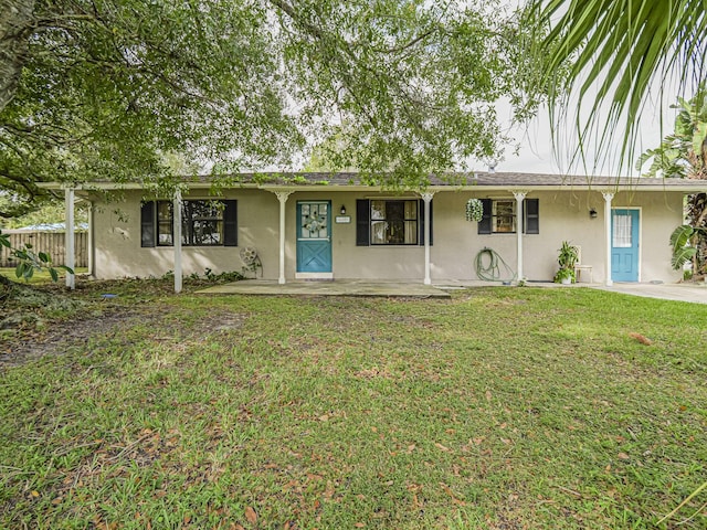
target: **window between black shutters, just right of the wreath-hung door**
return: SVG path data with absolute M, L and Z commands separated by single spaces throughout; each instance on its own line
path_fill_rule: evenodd
M 416 245 L 418 204 L 408 201 L 371 201 L 372 245 Z

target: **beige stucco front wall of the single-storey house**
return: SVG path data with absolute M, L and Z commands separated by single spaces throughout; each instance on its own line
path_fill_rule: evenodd
M 348 224 L 333 223 L 333 268 L 335 278 L 409 279 L 424 277 L 422 246 L 356 246 L 356 200 L 392 197 L 386 193 L 298 191 L 286 203 L 285 277 L 293 279 L 296 269 L 295 216 L 298 200 L 329 200 L 333 213 L 341 205 L 351 218 Z M 416 198 L 414 194 L 404 197 Z M 445 191 L 434 195 L 434 244 L 431 247 L 431 276 L 434 282 L 477 279 L 476 254 L 484 247 L 497 252 L 515 271 L 516 234 L 477 234 L 477 224 L 464 219 L 466 201 L 476 197 L 510 198 L 507 191 Z M 125 192 L 117 202 L 96 203 L 93 215 L 95 239 L 95 275 L 98 278 L 161 276 L 173 268 L 171 247 L 140 247 L 140 192 Z M 184 199 L 208 199 L 204 192 L 184 194 Z M 239 247 L 183 247 L 183 274 L 241 271 L 242 246 L 257 248 L 263 262 L 263 277 L 278 277 L 279 202 L 274 193 L 238 189 L 224 193 L 238 200 Z M 604 200 L 599 191 L 529 192 L 539 199 L 540 233 L 524 235 L 524 274 L 530 280 L 550 280 L 557 266 L 557 253 L 567 240 L 582 247 L 582 262 L 593 267 L 594 282 L 604 282 L 605 234 Z M 640 280 L 674 282 L 680 274 L 669 266 L 668 239 L 682 223 L 679 192 L 616 193 L 614 208 L 640 208 L 641 258 Z M 589 210 L 598 212 L 590 219 Z

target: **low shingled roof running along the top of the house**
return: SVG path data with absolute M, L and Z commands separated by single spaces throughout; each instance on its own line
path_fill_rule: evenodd
M 249 172 L 213 177 L 210 174 L 184 177 L 182 183 L 191 189 L 220 188 L 378 191 L 389 188 L 370 186 L 356 172 Z M 44 182 L 46 189 L 63 189 L 67 184 Z M 113 182 L 109 180 L 72 184 L 76 190 L 139 190 L 146 188 L 140 181 Z M 450 172 L 430 176 L 426 188 L 402 188 L 408 191 L 473 191 L 484 190 L 595 190 L 595 191 L 684 191 L 707 192 L 707 180 L 648 179 L 641 177 L 595 177 L 576 174 L 518 173 L 518 172 Z

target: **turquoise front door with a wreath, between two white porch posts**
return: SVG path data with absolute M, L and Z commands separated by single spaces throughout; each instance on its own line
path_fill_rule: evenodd
M 297 273 L 331 273 L 331 203 L 297 202 Z

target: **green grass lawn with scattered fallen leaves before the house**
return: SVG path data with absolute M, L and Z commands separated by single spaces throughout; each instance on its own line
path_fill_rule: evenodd
M 77 290 L 92 331 L 0 372 L 0 528 L 655 528 L 707 480 L 705 306 L 163 286 Z

